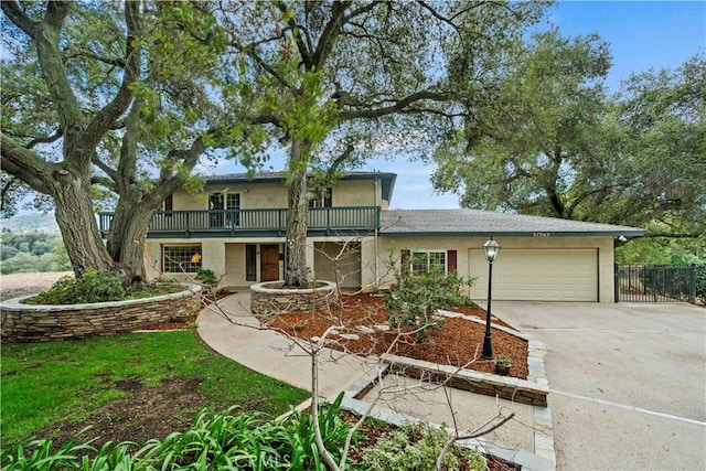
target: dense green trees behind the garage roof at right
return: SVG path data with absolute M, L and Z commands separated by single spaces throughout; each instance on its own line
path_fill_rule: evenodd
M 466 207 L 703 232 L 704 56 L 635 75 L 608 96 L 610 55 L 598 36 L 549 31 L 522 50 L 479 108 L 480 125 L 435 154 L 435 188 Z

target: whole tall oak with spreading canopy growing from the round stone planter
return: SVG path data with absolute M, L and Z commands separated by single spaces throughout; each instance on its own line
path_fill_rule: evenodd
M 308 283 L 310 171 L 331 175 L 372 157 L 381 141 L 430 143 L 460 116 L 473 119 L 461 100 L 472 103 L 502 75 L 504 58 L 545 7 L 495 1 L 226 3 L 216 18 L 252 71 L 248 101 L 260 105 L 260 121 L 288 151 L 289 286 Z M 462 72 L 466 81 L 458 82 Z

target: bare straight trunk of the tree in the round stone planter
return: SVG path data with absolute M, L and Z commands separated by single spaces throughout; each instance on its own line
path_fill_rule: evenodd
M 307 228 L 309 226 L 309 199 L 307 197 L 306 144 L 292 140 L 290 170 L 295 173 L 289 184 L 287 218 L 285 285 L 307 288 Z

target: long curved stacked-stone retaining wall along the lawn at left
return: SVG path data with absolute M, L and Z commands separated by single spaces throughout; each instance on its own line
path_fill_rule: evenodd
M 3 342 L 51 342 L 115 335 L 174 319 L 176 313 L 195 314 L 201 310 L 201 287 L 154 298 L 92 304 L 32 306 L 30 297 L 0 303 Z

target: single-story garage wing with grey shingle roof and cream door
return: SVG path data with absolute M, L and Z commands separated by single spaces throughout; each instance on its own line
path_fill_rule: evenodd
M 483 244 L 500 244 L 493 264 L 493 299 L 613 302 L 617 244 L 644 231 L 475 210 L 392 210 L 382 213 L 379 254 L 454 253 L 458 272 L 475 278 L 469 296 L 488 299 Z M 382 285 L 394 282 L 383 276 Z

